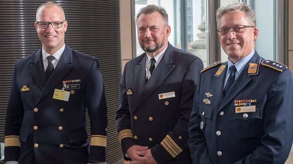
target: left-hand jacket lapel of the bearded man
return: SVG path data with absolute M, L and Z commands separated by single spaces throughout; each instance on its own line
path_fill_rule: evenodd
M 135 82 L 140 95 L 146 85 L 146 53 L 139 57 L 141 61 L 135 66 Z

